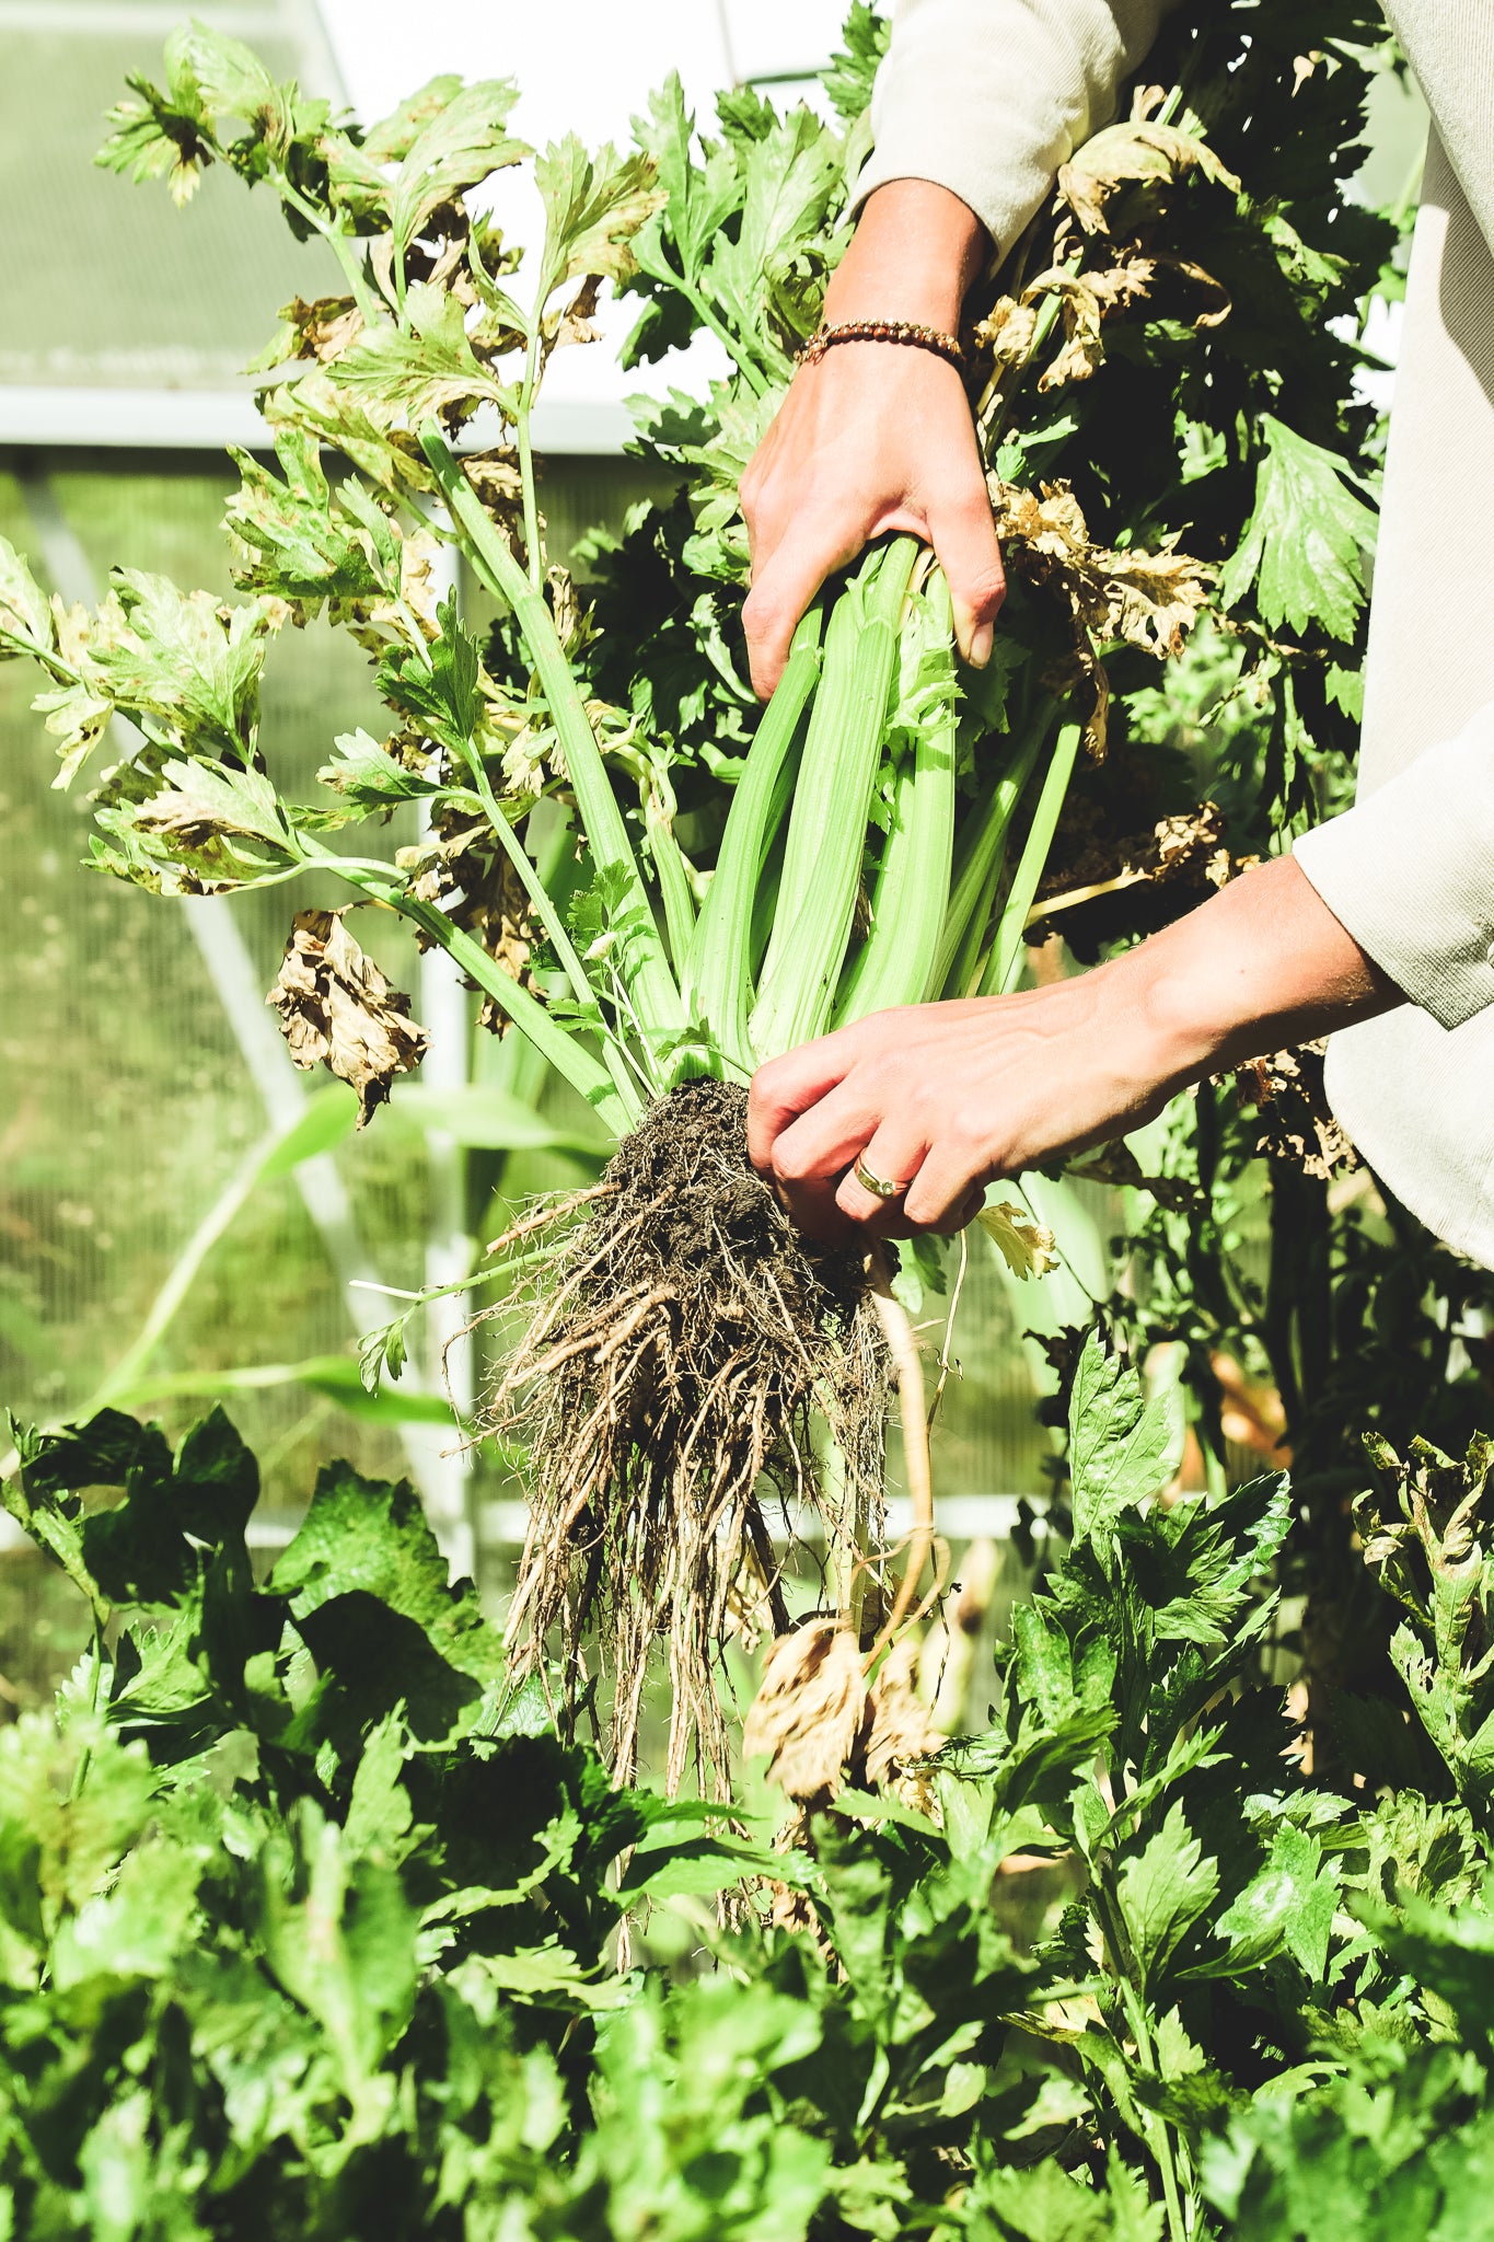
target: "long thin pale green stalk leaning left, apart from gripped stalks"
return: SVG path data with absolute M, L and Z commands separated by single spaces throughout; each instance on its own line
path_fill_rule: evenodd
M 555 738 L 560 740 L 591 861 L 603 881 L 614 881 L 620 888 L 625 908 L 625 980 L 638 1016 L 654 1034 L 679 1029 L 683 1027 L 679 989 L 654 924 L 650 892 L 638 872 L 618 798 L 611 791 L 611 780 L 607 778 L 607 767 L 591 731 L 587 704 L 580 697 L 580 686 L 555 634 L 555 619 L 542 592 L 508 552 L 504 536 L 488 520 L 432 419 L 421 426 L 421 446 L 437 473 L 452 520 L 466 531 L 473 567 L 493 596 L 513 608 L 555 726 Z M 616 906 L 611 908 L 616 912 Z

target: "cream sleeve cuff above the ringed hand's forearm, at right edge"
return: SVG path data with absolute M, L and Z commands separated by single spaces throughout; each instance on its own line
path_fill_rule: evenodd
M 1292 854 L 1413 1004 L 1472 1020 L 1494 1002 L 1494 702 Z

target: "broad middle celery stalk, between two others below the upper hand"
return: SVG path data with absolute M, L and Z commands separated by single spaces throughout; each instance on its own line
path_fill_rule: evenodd
M 874 552 L 831 610 L 750 1020 L 759 1058 L 809 1043 L 829 1020 L 856 919 L 898 619 L 916 552 L 914 538 Z

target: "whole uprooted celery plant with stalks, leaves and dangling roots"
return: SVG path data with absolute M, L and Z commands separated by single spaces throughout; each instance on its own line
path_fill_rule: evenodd
M 103 161 L 166 177 L 177 200 L 220 161 L 276 193 L 345 278 L 343 296 L 284 309 L 258 368 L 280 473 L 240 457 L 228 531 L 244 599 L 121 569 L 87 617 L 0 549 L 0 652 L 45 673 L 58 782 L 114 715 L 139 731 L 94 794 L 103 870 L 166 892 L 336 874 L 347 908 L 394 910 L 448 951 L 620 1139 L 499 1388 L 535 1473 L 520 1610 L 535 1643 L 555 1630 L 576 1655 L 587 1614 L 616 1621 L 623 1767 L 667 1634 L 676 1715 L 717 1778 L 710 1664 L 744 1551 L 784 1623 L 764 1475 L 822 1498 L 820 1415 L 844 1507 L 867 1516 L 887 1390 L 874 1294 L 894 1314 L 885 1269 L 804 1249 L 746 1175 L 741 1085 L 838 1022 L 1012 984 L 1080 749 L 1104 751 L 1107 664 L 1178 650 L 1214 578 L 1178 552 L 1180 484 L 1102 547 L 1073 491 L 1035 480 L 1082 421 L 1055 417 L 1051 392 L 1091 381 L 1104 318 L 1145 305 L 1174 202 L 1234 193 L 1180 96 L 1167 123 L 1147 96 L 1068 166 L 972 332 L 1017 587 L 990 673 L 961 673 L 947 587 L 894 538 L 827 587 L 757 720 L 739 664 L 737 480 L 847 240 L 867 25 L 860 9 L 858 58 L 838 76 L 844 130 L 732 94 L 721 137 L 703 139 L 672 81 L 638 146 L 596 155 L 576 139 L 522 148 L 506 83 L 435 78 L 365 130 L 276 85 L 235 40 L 175 34 L 166 87 L 132 81 Z M 526 258 L 477 193 L 517 161 L 544 209 Z M 1196 260 L 1174 265 L 1207 282 Z M 629 522 L 620 552 L 594 543 L 587 603 L 544 545 L 533 408 L 551 354 L 594 336 L 603 287 L 645 298 L 629 354 L 703 327 L 730 374 L 701 401 L 645 408 L 643 446 L 679 471 L 685 502 Z M 1174 348 L 1192 334 L 1203 350 L 1216 298 L 1203 305 L 1192 325 L 1174 307 Z M 486 448 L 479 413 L 497 421 Z M 1266 442 L 1283 430 L 1261 426 Z M 352 471 L 332 480 L 325 453 Z M 443 545 L 499 605 L 484 643 L 432 592 Z M 1234 599 L 1261 565 L 1245 540 Z M 652 590 L 629 610 L 634 585 Z M 260 742 L 258 682 L 276 632 L 323 612 L 374 659 L 390 729 L 340 735 L 327 791 L 296 803 Z M 535 847 L 542 803 L 551 836 L 558 807 L 585 859 L 578 892 L 573 865 Z M 408 805 L 423 839 L 347 845 Z M 363 1119 L 423 1047 L 340 912 L 300 915 L 273 1000 L 298 1060 L 345 1074 Z M 542 1222 L 524 1224 L 531 1247 Z M 670 1780 L 683 1751 L 676 1720 Z

